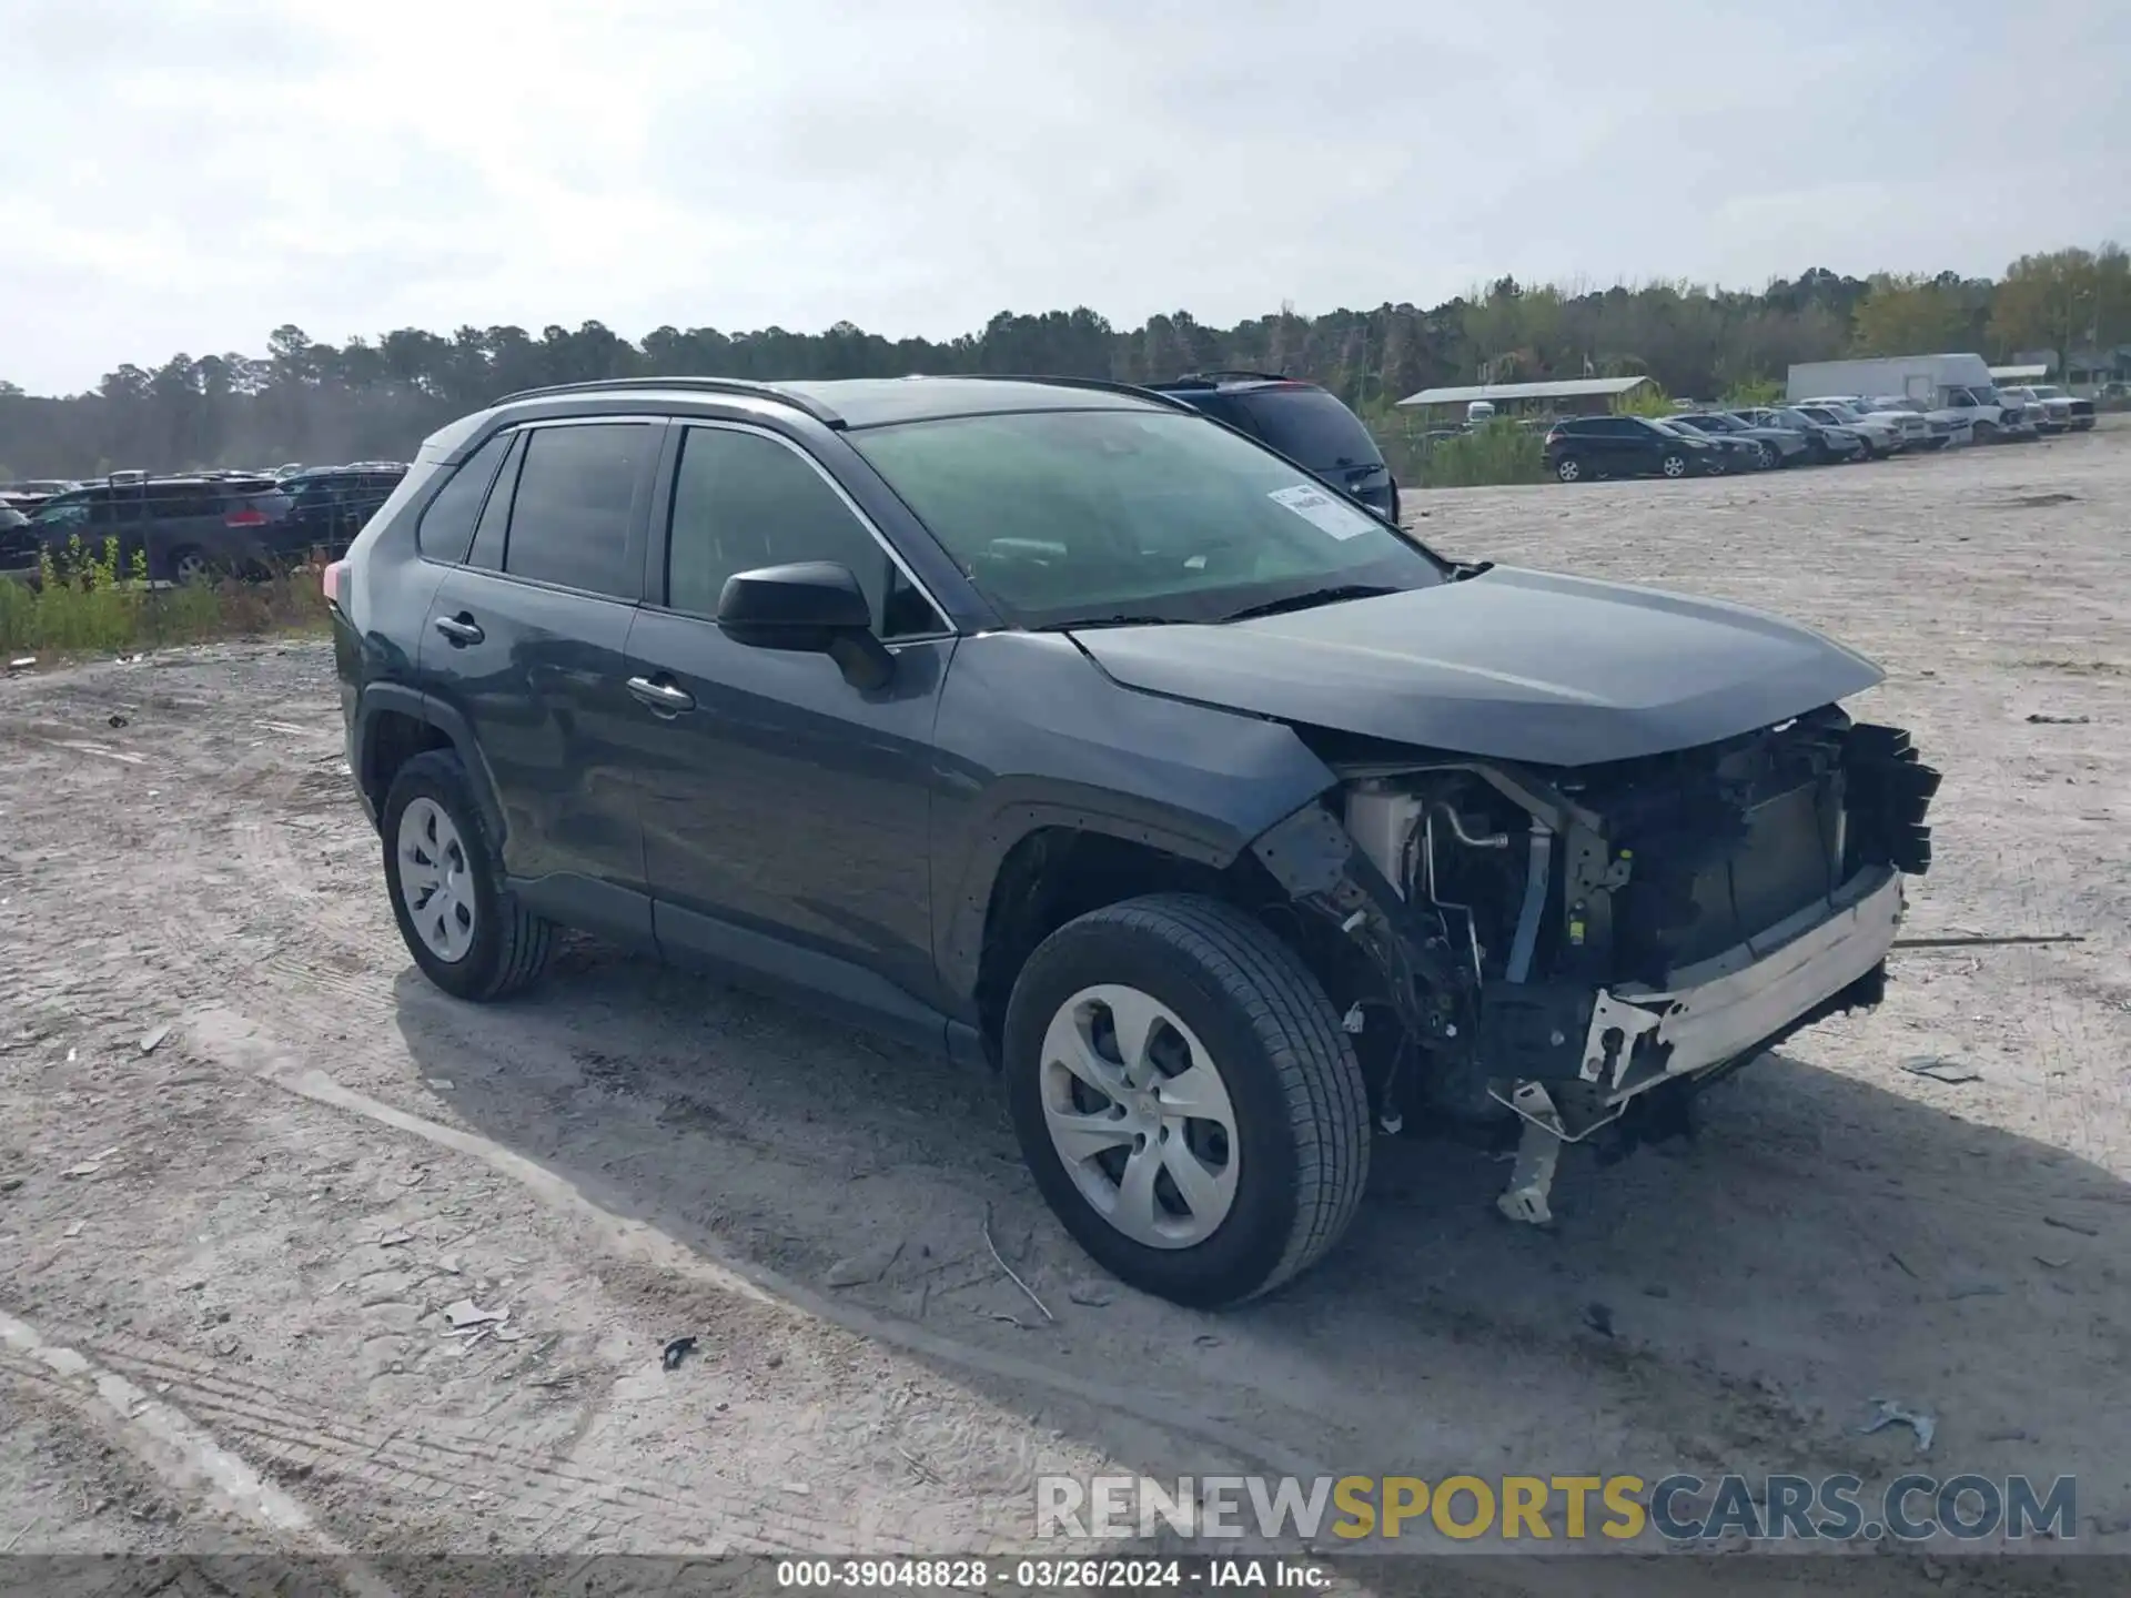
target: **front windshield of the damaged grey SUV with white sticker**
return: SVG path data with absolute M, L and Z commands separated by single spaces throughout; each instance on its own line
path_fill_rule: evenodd
M 1198 415 L 1023 411 L 846 437 L 1023 626 L 1210 622 L 1319 588 L 1449 577 L 1413 539 Z

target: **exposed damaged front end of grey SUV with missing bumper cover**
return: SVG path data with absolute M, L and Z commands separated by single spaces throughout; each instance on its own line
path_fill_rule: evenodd
M 1939 773 L 1824 707 L 1571 771 L 1347 750 L 1334 814 L 1257 859 L 1374 974 L 1379 1116 L 1522 1121 L 1502 1210 L 1545 1221 L 1564 1142 L 1656 1134 L 1792 1031 L 1875 1006 Z M 1641 1121 L 1641 1125 L 1637 1125 Z

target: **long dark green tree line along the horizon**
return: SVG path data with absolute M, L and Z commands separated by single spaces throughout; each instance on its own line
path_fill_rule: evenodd
M 1245 369 L 1311 377 L 1372 420 L 1438 384 L 1620 377 L 1720 396 L 1782 381 L 1801 360 L 1843 354 L 2131 343 L 2131 258 L 2116 245 L 2022 256 L 2003 277 L 1869 279 L 1813 268 L 1760 292 L 1690 283 L 1526 286 L 1500 279 L 1434 309 L 1274 315 L 1206 326 L 1189 311 L 1123 330 L 1087 307 L 1002 311 L 948 341 L 827 332 L 656 328 L 631 343 L 599 322 L 401 328 L 332 345 L 281 326 L 264 356 L 170 356 L 124 364 L 85 394 L 38 396 L 0 381 L 0 471 L 81 477 L 145 467 L 271 467 L 281 460 L 405 460 L 454 415 L 546 384 L 639 375 L 754 379 L 908 373 L 1059 373 L 1159 381 Z

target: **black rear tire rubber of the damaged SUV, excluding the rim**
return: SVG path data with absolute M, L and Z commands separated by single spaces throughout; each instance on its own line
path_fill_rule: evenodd
M 467 874 L 473 880 L 473 942 L 456 961 L 441 959 L 422 942 L 401 893 L 398 825 L 416 799 L 435 801 L 450 816 L 465 844 Z M 467 782 L 467 769 L 454 752 L 428 750 L 398 769 L 379 812 L 379 833 L 392 918 L 398 923 L 401 940 L 413 955 L 413 963 L 422 967 L 422 976 L 454 999 L 477 1004 L 505 999 L 539 980 L 554 946 L 554 923 L 535 916 L 503 888 L 497 842 L 482 820 L 482 808 L 473 801 L 473 784 Z

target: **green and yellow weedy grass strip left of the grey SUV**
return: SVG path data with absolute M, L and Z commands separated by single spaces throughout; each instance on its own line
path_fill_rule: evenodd
M 79 539 L 38 565 L 36 584 L 0 577 L 0 650 L 124 654 L 224 637 L 264 637 L 326 624 L 320 565 L 260 580 L 149 584 L 147 562 L 119 567 L 117 539 L 90 556 Z

